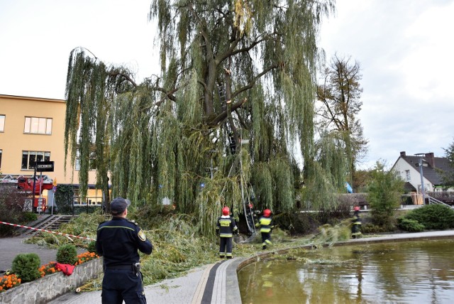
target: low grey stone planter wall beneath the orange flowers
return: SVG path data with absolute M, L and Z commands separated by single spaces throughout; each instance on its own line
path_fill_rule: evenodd
M 4 291 L 0 293 L 0 303 L 48 303 L 60 295 L 74 291 L 84 282 L 96 278 L 101 271 L 102 259 L 94 259 L 77 265 L 71 276 L 59 271 Z

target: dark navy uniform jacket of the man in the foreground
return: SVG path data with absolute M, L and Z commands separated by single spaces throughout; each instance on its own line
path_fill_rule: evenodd
M 139 261 L 138 250 L 144 254 L 153 251 L 138 224 L 123 217 L 99 224 L 96 234 L 96 251 L 103 256 L 104 266 L 131 265 Z

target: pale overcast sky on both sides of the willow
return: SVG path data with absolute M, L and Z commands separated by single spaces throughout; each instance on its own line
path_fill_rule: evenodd
M 143 77 L 157 74 L 151 0 L 0 0 L 0 94 L 65 98 L 70 51 L 89 49 Z M 320 46 L 362 67 L 360 120 L 369 153 L 360 168 L 400 151 L 454 141 L 454 0 L 337 0 Z M 1 104 L 0 104 L 1 112 Z

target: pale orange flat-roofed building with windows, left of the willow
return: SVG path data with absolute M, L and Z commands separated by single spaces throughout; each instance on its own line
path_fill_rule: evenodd
M 7 175 L 33 175 L 35 161 L 53 161 L 54 171 L 43 175 L 56 180 L 57 185 L 79 185 L 79 171 L 69 160 L 65 174 L 65 111 L 65 100 L 0 94 L 0 182 L 9 178 Z M 87 193 L 92 204 L 102 200 L 95 183 L 93 170 Z M 45 190 L 43 196 L 47 195 Z

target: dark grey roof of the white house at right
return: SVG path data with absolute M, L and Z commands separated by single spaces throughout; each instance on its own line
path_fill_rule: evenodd
M 423 175 L 433 185 L 443 185 L 443 178 L 439 170 L 445 172 L 453 171 L 448 158 L 434 157 L 433 153 L 426 153 L 424 156 L 407 156 L 405 152 L 400 153 L 400 157 L 409 165 L 419 170 L 419 158 L 423 161 Z

